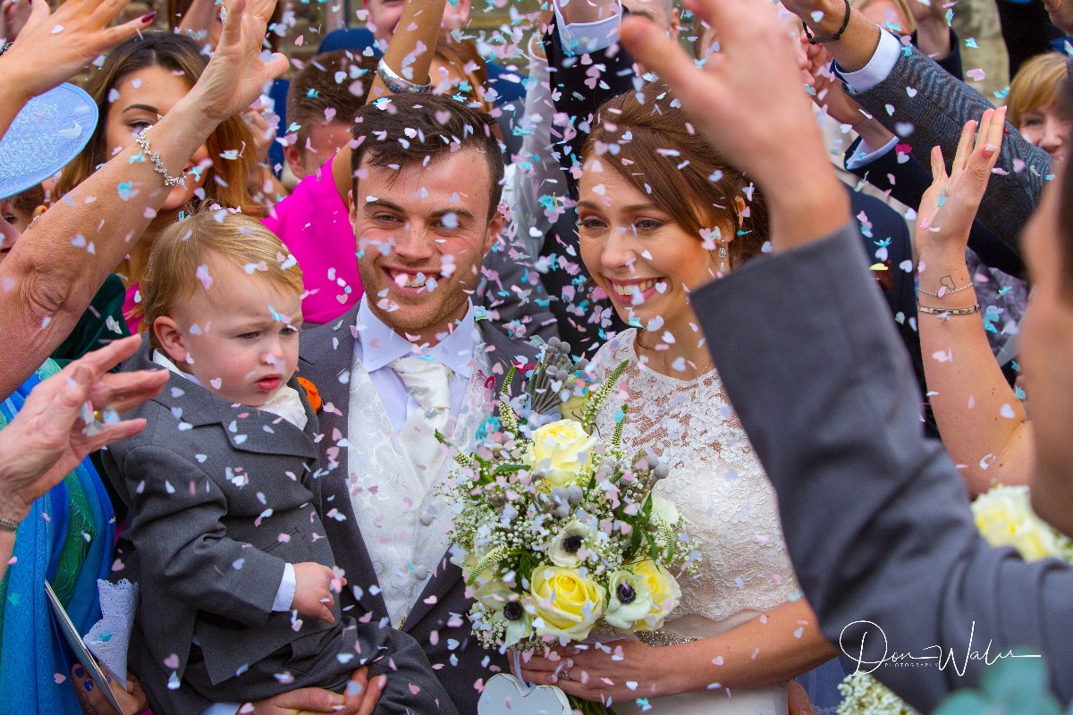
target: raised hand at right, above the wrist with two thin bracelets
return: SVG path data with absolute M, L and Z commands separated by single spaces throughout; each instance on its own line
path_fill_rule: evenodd
M 1004 123 L 1005 107 L 984 111 L 979 132 L 975 121 L 967 122 L 949 175 L 942 149 L 931 149 L 932 183 L 924 192 L 916 220 L 916 250 L 922 262 L 939 255 L 964 262 L 972 221 L 998 161 Z

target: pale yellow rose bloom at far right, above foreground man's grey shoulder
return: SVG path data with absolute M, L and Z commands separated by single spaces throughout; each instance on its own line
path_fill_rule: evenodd
M 988 543 L 1012 546 L 1025 561 L 1058 553 L 1055 531 L 1032 511 L 1028 487 L 995 487 L 972 503 L 972 517 Z

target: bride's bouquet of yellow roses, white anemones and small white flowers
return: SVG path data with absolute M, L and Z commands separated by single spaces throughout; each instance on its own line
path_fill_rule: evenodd
M 624 414 L 609 440 L 594 434 L 626 364 L 598 389 L 586 386 L 584 403 L 571 405 L 575 418 L 554 421 L 525 405 L 544 392 L 576 403 L 577 371 L 545 354 L 529 377 L 536 393 L 516 400 L 515 412 L 505 400 L 512 369 L 501 429 L 455 457 L 461 468 L 446 487 L 452 561 L 473 590 L 469 619 L 488 649 L 656 630 L 678 606 L 675 575 L 694 570 L 699 553 L 674 504 L 652 493 L 668 470 L 646 452 L 624 453 Z

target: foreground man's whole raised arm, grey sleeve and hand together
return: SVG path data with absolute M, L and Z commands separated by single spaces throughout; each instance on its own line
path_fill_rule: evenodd
M 892 653 L 980 653 L 981 638 L 991 654 L 1025 645 L 1046 655 L 1049 684 L 1068 703 L 1073 683 L 1064 664 L 1073 645 L 1056 626 L 1073 619 L 1073 569 L 1056 560 L 1026 564 L 980 537 L 960 476 L 921 434 L 912 373 L 844 204 L 835 203 L 838 192 L 820 189 L 793 210 L 832 169 L 819 137 L 803 134 L 812 124 L 795 107 L 794 68 L 780 46 L 785 36 L 776 36 L 764 0 L 702 1 L 701 14 L 722 43 L 705 72 L 643 24 L 624 24 L 622 41 L 651 62 L 696 130 L 751 173 L 769 199 L 775 255 L 691 299 L 705 334 L 718 337 L 707 345 L 776 488 L 790 555 L 824 635 L 871 664 Z M 793 181 L 798 196 L 780 196 L 794 193 Z M 1044 199 L 1055 222 L 1048 202 L 1056 198 Z M 1054 479 L 1068 480 L 1059 460 L 1049 466 Z M 984 660 L 960 658 L 957 669 L 950 662 L 874 674 L 930 710 L 949 691 L 979 682 Z

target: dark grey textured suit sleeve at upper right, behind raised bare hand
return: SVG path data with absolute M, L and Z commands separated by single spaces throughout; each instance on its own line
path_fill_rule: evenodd
M 865 92 L 854 92 L 853 99 L 903 137 L 924 167 L 931 166 L 935 146 L 942 147 L 950 167 L 965 122 L 979 120 L 985 109 L 995 107 L 916 47 L 902 48 L 886 79 Z M 1025 140 L 1013 124 L 1006 122 L 1005 132 L 996 165 L 1000 173 L 991 175 L 978 220 L 1020 255 L 1018 235 L 1040 202 L 1054 160 Z

